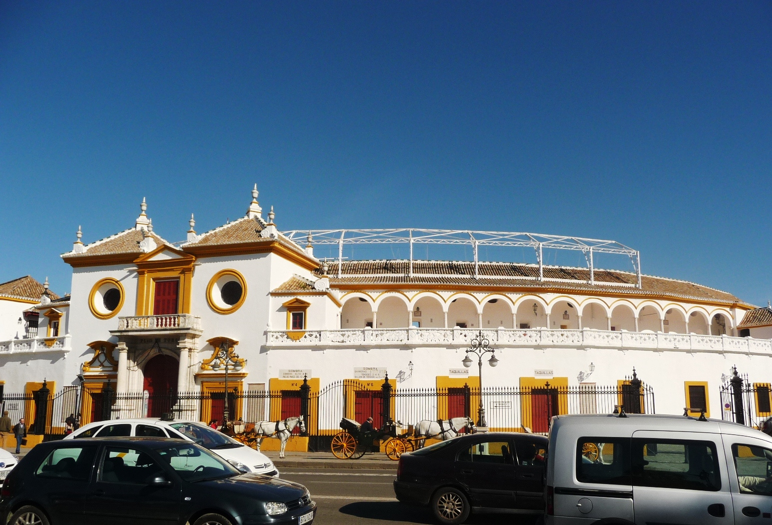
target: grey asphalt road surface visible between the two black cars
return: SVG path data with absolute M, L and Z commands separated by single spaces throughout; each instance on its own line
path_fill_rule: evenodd
M 393 470 L 283 469 L 281 477 L 302 483 L 316 500 L 314 525 L 388 525 L 436 522 L 428 509 L 394 498 Z M 472 514 L 471 525 L 533 525 L 533 517 Z

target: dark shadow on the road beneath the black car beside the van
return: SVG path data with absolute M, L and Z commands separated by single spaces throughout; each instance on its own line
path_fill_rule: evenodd
M 384 521 L 404 521 L 406 523 L 425 523 L 426 525 L 438 523 L 435 521 L 428 508 L 410 506 L 392 501 L 360 501 L 349 503 L 340 507 L 340 513 L 358 518 Z M 495 525 L 496 523 L 522 523 L 533 525 L 537 517 L 513 515 L 513 514 L 472 514 L 466 523 L 469 525 Z

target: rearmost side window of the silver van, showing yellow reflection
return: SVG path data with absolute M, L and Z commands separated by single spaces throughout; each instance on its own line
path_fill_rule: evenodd
M 630 439 L 579 438 L 576 460 L 581 483 L 632 484 Z

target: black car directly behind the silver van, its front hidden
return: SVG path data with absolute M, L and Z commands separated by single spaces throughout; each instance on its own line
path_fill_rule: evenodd
M 470 512 L 543 513 L 543 435 L 463 435 L 403 454 L 394 493 L 429 505 L 440 523 L 463 523 Z

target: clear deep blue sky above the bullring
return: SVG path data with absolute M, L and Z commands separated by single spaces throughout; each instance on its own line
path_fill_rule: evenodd
M 770 29 L 769 2 L 2 2 L 0 282 L 65 293 L 78 225 L 146 197 L 181 240 L 256 182 L 279 229 L 615 239 L 766 305 Z

